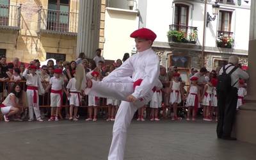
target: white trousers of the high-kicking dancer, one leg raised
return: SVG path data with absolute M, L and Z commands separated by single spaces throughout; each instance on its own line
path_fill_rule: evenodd
M 92 88 L 86 88 L 85 92 L 89 95 L 98 97 L 113 98 L 123 100 L 117 111 L 113 127 L 113 138 L 109 150 L 109 160 L 123 160 L 126 142 L 127 128 L 131 124 L 134 113 L 152 99 L 153 92 L 150 91 L 145 97 L 137 102 L 126 102 L 126 97 L 134 92 L 133 83 L 106 83 L 93 81 Z

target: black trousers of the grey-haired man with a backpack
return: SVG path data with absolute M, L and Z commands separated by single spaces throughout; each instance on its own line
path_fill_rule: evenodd
M 217 92 L 218 99 L 218 138 L 230 137 L 236 117 L 237 88 L 232 87 L 229 93 Z

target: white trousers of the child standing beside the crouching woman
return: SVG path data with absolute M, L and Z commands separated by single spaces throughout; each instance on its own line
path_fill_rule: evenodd
M 34 112 L 35 112 L 36 120 L 38 120 L 41 118 L 40 109 L 39 109 L 38 91 L 36 90 L 36 99 L 37 99 L 36 103 L 33 102 L 33 95 L 34 95 L 33 90 L 27 90 L 29 119 L 31 119 L 31 120 L 34 119 Z

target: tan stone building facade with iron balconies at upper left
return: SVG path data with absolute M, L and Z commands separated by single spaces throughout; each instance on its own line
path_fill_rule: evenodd
M 1 0 L 0 54 L 8 61 L 74 60 L 78 0 Z

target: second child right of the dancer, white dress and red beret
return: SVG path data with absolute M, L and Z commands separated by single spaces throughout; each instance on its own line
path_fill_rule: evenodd
M 179 73 L 174 73 L 173 81 L 170 81 L 170 104 L 173 105 L 172 120 L 181 120 L 181 117 L 177 116 L 177 106 L 178 104 L 180 104 L 181 99 L 184 100 L 184 90 L 182 90 L 182 85 L 179 81 L 179 77 Z

